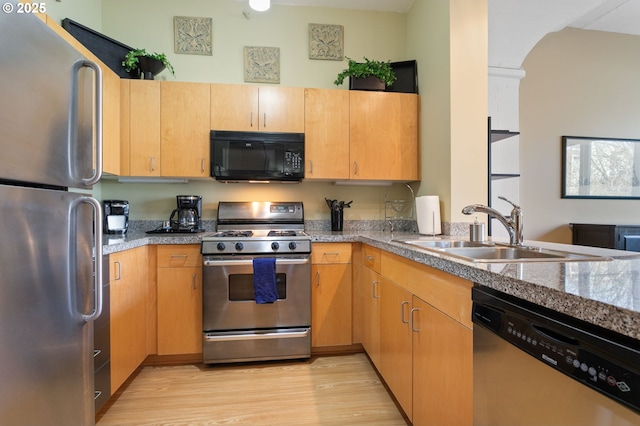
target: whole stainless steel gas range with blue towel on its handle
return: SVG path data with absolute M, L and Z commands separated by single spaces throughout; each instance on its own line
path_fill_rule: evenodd
M 216 229 L 202 237 L 204 363 L 310 357 L 311 238 L 302 203 L 220 202 Z M 265 301 L 256 268 L 269 262 L 273 297 Z

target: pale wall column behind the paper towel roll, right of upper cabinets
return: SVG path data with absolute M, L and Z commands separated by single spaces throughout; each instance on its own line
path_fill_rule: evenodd
M 416 0 L 407 31 L 422 98 L 419 195 L 440 197 L 443 221 L 471 222 L 462 207 L 487 202 L 487 3 Z

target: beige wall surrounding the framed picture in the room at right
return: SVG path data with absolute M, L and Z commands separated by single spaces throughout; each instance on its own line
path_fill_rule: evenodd
M 525 238 L 571 242 L 569 223 L 638 224 L 639 200 L 560 197 L 561 137 L 640 139 L 640 37 L 567 28 L 523 63 L 520 198 Z

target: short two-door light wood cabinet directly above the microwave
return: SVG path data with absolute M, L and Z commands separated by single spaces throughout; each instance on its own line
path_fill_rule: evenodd
M 303 133 L 304 89 L 212 84 L 211 129 Z

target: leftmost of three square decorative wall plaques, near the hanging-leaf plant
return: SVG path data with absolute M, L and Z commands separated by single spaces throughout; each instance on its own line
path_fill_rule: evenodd
M 211 56 L 213 20 L 211 18 L 173 17 L 176 53 Z

